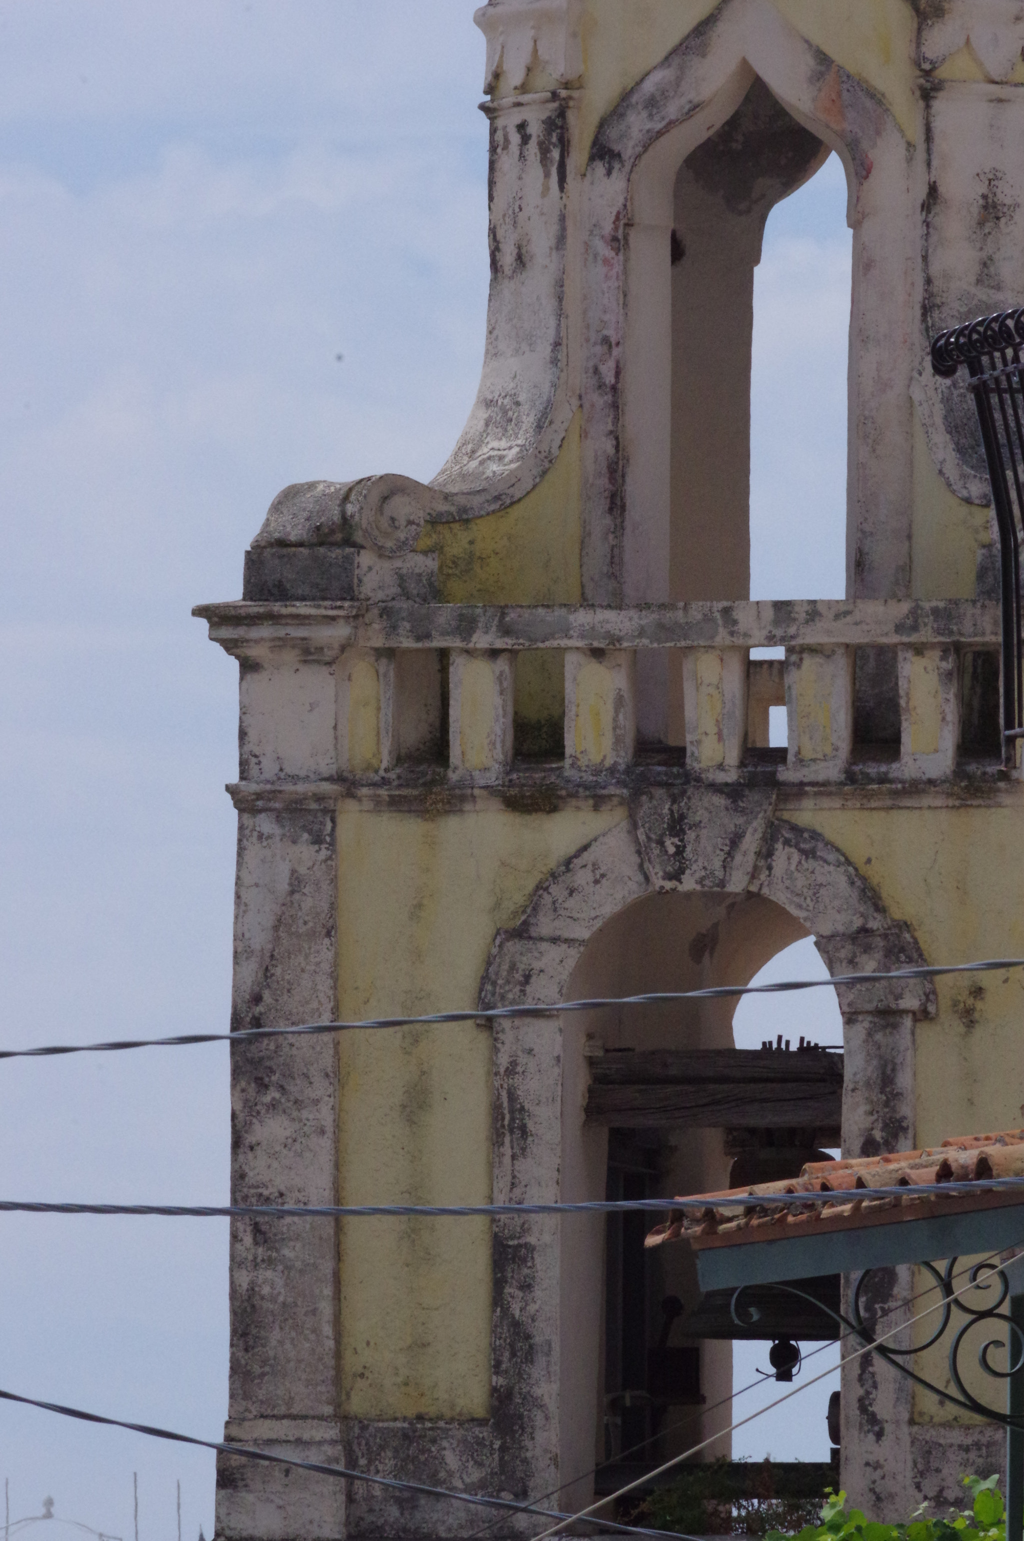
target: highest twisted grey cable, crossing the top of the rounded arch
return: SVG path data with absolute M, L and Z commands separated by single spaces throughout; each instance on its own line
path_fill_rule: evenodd
M 322 1032 L 366 1032 L 383 1028 L 420 1028 L 445 1022 L 508 1022 L 517 1017 L 559 1017 L 567 1011 L 597 1011 L 605 1006 L 664 1006 L 679 1000 L 733 1000 L 739 995 L 778 995 L 793 989 L 824 989 L 835 985 L 876 985 L 901 979 L 938 979 L 942 974 L 986 974 L 1024 968 L 1024 959 L 986 959 L 979 963 L 922 965 L 876 974 L 835 974 L 830 979 L 779 980 L 775 985 L 714 985 L 707 989 L 659 991 L 647 995 L 599 995 L 564 1000 L 548 1006 L 490 1006 L 473 1011 L 436 1011 L 419 1017 L 368 1017 L 360 1022 L 306 1022 L 289 1028 L 239 1028 L 236 1032 L 186 1032 L 166 1039 L 119 1039 L 111 1043 L 48 1043 L 34 1049 L 0 1049 L 0 1059 L 37 1059 L 54 1054 L 111 1054 L 120 1049 L 188 1048 L 196 1043 L 243 1043 L 253 1039 L 294 1037 Z

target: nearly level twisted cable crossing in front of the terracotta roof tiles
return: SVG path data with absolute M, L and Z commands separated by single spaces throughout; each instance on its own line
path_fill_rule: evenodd
M 881 1199 L 962 1197 L 981 1193 L 1024 1193 L 1024 1177 L 981 1177 L 973 1182 L 921 1182 L 899 1188 L 844 1188 L 825 1193 L 738 1193 L 676 1199 L 581 1199 L 565 1204 L 49 1204 L 34 1199 L 0 1199 L 0 1214 L 120 1214 L 194 1220 L 266 1220 L 357 1217 L 473 1219 L 517 1214 L 617 1214 L 627 1210 L 750 1210 L 802 1208 L 875 1202 Z

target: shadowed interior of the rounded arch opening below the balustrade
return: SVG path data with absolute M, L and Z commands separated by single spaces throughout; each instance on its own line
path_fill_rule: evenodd
M 764 895 L 651 892 L 591 935 L 567 995 L 747 983 L 770 960 L 787 959 L 793 945 L 813 948 L 805 925 Z M 835 1003 L 835 992 L 828 994 Z M 604 1008 L 564 1019 L 565 1200 L 713 1191 L 730 1185 L 739 1159 L 758 1159 L 756 1131 L 733 1128 L 735 1111 L 673 1111 L 670 1065 L 661 1068 L 667 1082 L 658 1088 L 667 1093 L 662 1108 L 653 1110 L 650 1097 L 642 1106 L 622 1102 L 634 1069 L 647 1086 L 658 1080 L 658 1056 L 742 1046 L 750 1023 L 741 1019 L 736 1039 L 735 1012 L 735 1000 L 705 1000 Z M 608 1086 L 611 1106 L 604 1091 Z M 764 1159 L 778 1165 L 788 1156 L 802 1165 L 819 1148 L 819 1136 L 824 1139 L 824 1131 L 773 1130 Z M 561 1227 L 561 1469 L 567 1479 L 581 1473 L 565 1501 L 585 1502 L 591 1478 L 582 1473 L 594 1465 L 611 1461 L 617 1475 L 624 1464 L 650 1467 L 728 1427 L 733 1353 L 721 1333 L 687 1333 L 687 1321 L 696 1319 L 701 1305 L 690 1254 L 685 1248 L 645 1253 L 647 1214 L 567 1216 Z M 731 1441 L 724 1436 L 704 1458 L 730 1453 Z

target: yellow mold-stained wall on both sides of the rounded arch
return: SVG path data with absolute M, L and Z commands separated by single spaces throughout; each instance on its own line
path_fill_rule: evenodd
M 1016 801 L 1016 800 L 1015 800 Z M 585 801 L 516 811 L 339 809 L 342 1017 L 473 1008 L 497 929 L 573 851 L 624 817 Z M 1024 955 L 1016 806 L 790 809 L 913 928 L 925 957 Z M 1024 979 L 936 982 L 916 1029 L 916 1142 L 1024 1122 Z M 474 1025 L 351 1034 L 340 1056 L 339 1202 L 491 1197 L 491 1049 Z M 351 1245 L 350 1245 L 351 1239 Z M 380 1222 L 340 1239 L 340 1398 L 362 1418 L 484 1418 L 490 1407 L 487 1222 Z M 708 1367 L 710 1368 L 710 1367 Z

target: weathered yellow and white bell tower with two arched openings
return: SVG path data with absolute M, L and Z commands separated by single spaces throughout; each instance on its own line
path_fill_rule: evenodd
M 1024 952 L 990 490 L 969 393 L 929 354 L 1024 302 L 1024 23 L 978 9 L 477 11 L 491 290 L 462 438 L 430 484 L 285 488 L 242 599 L 196 612 L 240 666 L 236 1028 L 744 985 L 807 935 L 833 974 Z M 853 230 L 847 593 L 755 603 L 753 270 L 771 206 L 830 156 Z M 739 1054 L 721 1000 L 239 1043 L 234 1202 L 699 1193 L 741 1148 L 778 1165 L 1019 1125 L 1019 975 L 838 994 L 842 1085 L 799 1130 L 782 1097 L 630 1080 Z M 630 1234 L 236 1222 L 226 1439 L 573 1509 L 642 1393 L 651 1462 L 728 1456 L 728 1338 Z M 885 1288 L 879 1308 L 912 1271 Z M 842 1486 L 879 1519 L 1002 1461 L 870 1356 L 841 1433 Z M 479 1523 L 220 1462 L 225 1541 Z

